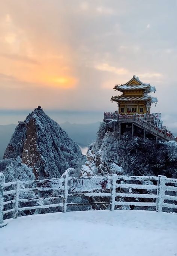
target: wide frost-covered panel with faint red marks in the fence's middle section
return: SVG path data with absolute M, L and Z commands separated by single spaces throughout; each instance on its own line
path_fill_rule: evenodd
M 70 189 L 72 192 L 110 189 L 110 178 L 105 176 L 71 178 Z

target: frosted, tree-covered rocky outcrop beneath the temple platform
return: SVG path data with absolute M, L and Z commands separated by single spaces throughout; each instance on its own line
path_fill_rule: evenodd
M 177 143 L 134 137 L 125 132 L 121 139 L 113 122 L 101 123 L 97 139 L 87 151 L 81 175 L 165 175 L 177 178 Z

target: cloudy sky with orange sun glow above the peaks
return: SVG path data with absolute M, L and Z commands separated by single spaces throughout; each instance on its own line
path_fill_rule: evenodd
M 176 0 L 1 1 L 0 124 L 38 105 L 101 121 L 117 109 L 114 85 L 137 75 L 156 86 L 152 112 L 177 127 L 176 24 Z

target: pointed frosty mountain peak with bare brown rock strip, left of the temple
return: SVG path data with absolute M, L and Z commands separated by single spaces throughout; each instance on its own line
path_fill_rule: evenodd
M 79 146 L 39 106 L 19 122 L 3 158 L 20 157 L 38 178 L 60 177 L 66 169 L 79 169 L 86 160 Z

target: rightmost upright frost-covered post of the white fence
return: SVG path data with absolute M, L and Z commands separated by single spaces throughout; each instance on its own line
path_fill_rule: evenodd
M 157 201 L 156 201 L 156 211 L 162 211 L 163 203 L 164 203 L 164 194 L 165 194 L 165 183 L 167 177 L 163 175 L 158 175 L 158 183 L 157 183 Z

